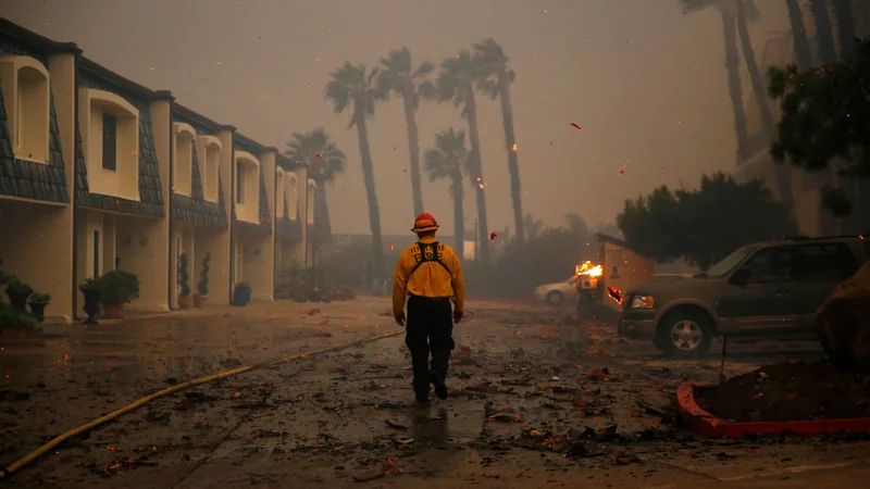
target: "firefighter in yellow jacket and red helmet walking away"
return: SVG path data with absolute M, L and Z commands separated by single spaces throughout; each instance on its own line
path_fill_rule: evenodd
M 435 240 L 436 230 L 438 223 L 431 214 L 417 216 L 411 231 L 417 233 L 418 241 L 401 252 L 393 276 L 393 316 L 399 326 L 406 327 L 405 344 L 411 351 L 414 396 L 421 404 L 428 400 L 433 386 L 438 399 L 447 399 L 447 362 L 456 347 L 453 323 L 462 319 L 465 305 L 459 256 L 452 248 Z

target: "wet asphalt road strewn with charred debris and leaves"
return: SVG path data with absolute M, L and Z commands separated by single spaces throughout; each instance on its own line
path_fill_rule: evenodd
M 175 383 L 395 330 L 388 308 L 279 301 L 3 339 L 0 464 Z M 469 308 L 451 398 L 427 409 L 412 405 L 402 337 L 389 338 L 157 400 L 0 486 L 838 487 L 866 471 L 867 442 L 705 440 L 675 427 L 676 385 L 714 381 L 717 354 L 669 361 L 544 306 Z M 820 355 L 804 342 L 729 350 L 729 376 Z

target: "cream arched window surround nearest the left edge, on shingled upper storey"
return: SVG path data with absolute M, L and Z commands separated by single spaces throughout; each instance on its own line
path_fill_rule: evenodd
M 12 152 L 20 160 L 50 159 L 51 85 L 48 70 L 28 57 L 0 58 L 0 83 Z

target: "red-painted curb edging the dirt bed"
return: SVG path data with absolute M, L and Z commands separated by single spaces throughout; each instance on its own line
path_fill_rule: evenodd
M 676 404 L 680 417 L 694 431 L 716 437 L 742 437 L 745 435 L 824 435 L 835 432 L 870 431 L 870 417 L 852 419 L 818 419 L 799 422 L 732 423 L 704 411 L 695 402 L 696 387 L 712 387 L 712 384 L 687 381 L 676 388 Z

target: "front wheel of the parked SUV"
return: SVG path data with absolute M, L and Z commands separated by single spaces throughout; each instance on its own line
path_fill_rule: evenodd
M 667 314 L 658 327 L 654 344 L 671 356 L 692 356 L 710 348 L 713 327 L 703 313 L 674 311 Z

